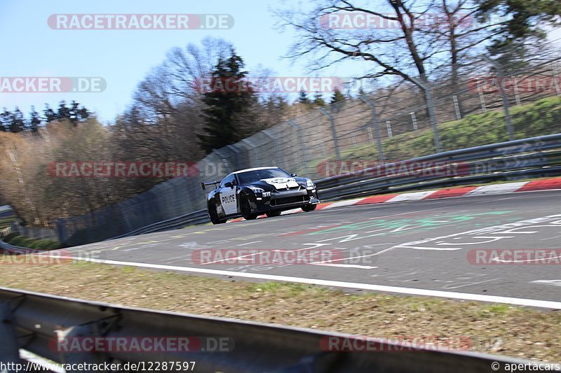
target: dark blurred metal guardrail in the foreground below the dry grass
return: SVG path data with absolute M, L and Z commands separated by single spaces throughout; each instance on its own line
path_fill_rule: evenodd
M 365 344 L 365 338 L 356 335 L 118 307 L 8 288 L 0 288 L 0 318 L 1 363 L 20 361 L 19 349 L 64 364 L 196 362 L 194 372 L 492 372 L 492 362 L 500 364 L 499 371 L 505 364 L 536 363 L 467 351 L 404 349 L 386 339 L 368 339 Z M 187 346 L 198 347 L 138 353 L 104 344 L 103 351 L 67 350 L 73 345 L 69 340 L 88 337 L 104 341 L 184 337 Z M 204 343 L 191 344 L 217 337 L 227 341 L 218 351 L 202 351 Z M 369 349 L 338 351 L 329 348 L 342 346 L 330 345 L 332 340 Z

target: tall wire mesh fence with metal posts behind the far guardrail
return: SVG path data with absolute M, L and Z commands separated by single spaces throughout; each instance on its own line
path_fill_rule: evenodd
M 560 133 L 559 56 L 552 52 L 520 66 L 481 59 L 446 83 L 403 83 L 311 109 L 213 151 L 198 162 L 198 176 L 173 178 L 126 202 L 58 219 L 56 236 L 67 245 L 85 244 L 205 209 L 201 181 L 238 169 L 278 166 L 317 180 L 329 176 L 321 167 L 327 160 L 395 162 Z M 32 229 L 26 235 L 37 237 Z

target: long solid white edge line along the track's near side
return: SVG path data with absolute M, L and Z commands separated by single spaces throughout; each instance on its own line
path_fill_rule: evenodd
M 69 257 L 68 258 L 61 257 L 61 258 L 75 259 Z M 356 289 L 363 289 L 363 290 L 381 291 L 386 293 L 423 295 L 427 297 L 441 297 L 441 298 L 450 298 L 450 299 L 458 299 L 458 300 L 474 300 L 479 302 L 515 304 L 518 306 L 540 307 L 546 309 L 561 309 L 561 302 L 553 302 L 549 300 L 529 300 L 524 298 L 500 297 L 496 295 L 480 295 L 480 294 L 470 294 L 470 293 L 449 292 L 449 291 L 442 291 L 442 290 L 401 288 L 398 286 L 382 286 L 382 285 L 374 285 L 371 283 L 353 283 L 353 282 L 332 281 L 332 280 L 322 280 L 322 279 L 306 279 L 304 277 L 279 276 L 273 274 L 255 274 L 255 273 L 247 273 L 247 272 L 224 271 L 222 269 L 178 267 L 173 265 L 156 265 L 156 264 L 140 263 L 140 262 L 121 262 L 119 260 L 100 260 L 94 258 L 81 258 L 79 260 L 102 263 L 107 265 L 128 265 L 128 266 L 132 265 L 135 267 L 168 269 L 172 271 L 191 272 L 191 273 L 216 274 L 219 276 L 244 277 L 250 279 L 283 281 L 283 282 L 292 282 L 292 283 L 309 283 L 311 285 L 331 286 L 334 288 L 356 288 Z

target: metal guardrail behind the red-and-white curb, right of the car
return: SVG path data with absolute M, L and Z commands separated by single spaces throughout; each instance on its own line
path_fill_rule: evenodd
M 454 175 L 431 174 L 440 164 L 456 164 Z M 358 195 L 426 188 L 428 185 L 459 185 L 496 179 L 555 176 L 561 174 L 561 134 L 538 136 L 485 146 L 452 150 L 411 160 L 383 164 L 384 169 L 401 165 L 429 164 L 424 175 L 392 172 L 374 176 L 379 169 L 369 167 L 356 172 L 331 176 L 316 181 L 322 200 L 335 200 Z M 428 172 L 427 172 L 428 171 Z M 391 189 L 393 188 L 393 189 Z

